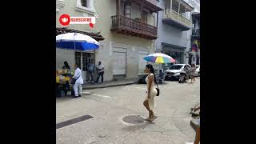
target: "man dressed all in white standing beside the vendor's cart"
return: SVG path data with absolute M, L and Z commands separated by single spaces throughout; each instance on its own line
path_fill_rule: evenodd
M 74 64 L 74 76 L 73 78 L 76 79 L 74 83 L 74 97 L 73 98 L 78 98 L 81 97 L 82 95 L 82 84 L 83 84 L 83 79 L 82 79 L 82 71 L 79 69 L 79 67 Z

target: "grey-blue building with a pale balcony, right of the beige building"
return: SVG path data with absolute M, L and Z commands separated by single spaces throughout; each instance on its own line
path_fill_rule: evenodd
M 175 58 L 177 63 L 188 63 L 194 7 L 183 0 L 162 0 L 158 6 L 164 10 L 159 13 L 156 50 Z

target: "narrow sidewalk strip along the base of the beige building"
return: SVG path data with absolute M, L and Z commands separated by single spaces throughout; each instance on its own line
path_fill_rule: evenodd
M 98 88 L 106 88 L 106 87 L 114 87 L 114 86 L 126 86 L 131 85 L 138 82 L 138 78 L 136 79 L 125 79 L 118 80 L 112 82 L 103 82 L 103 83 L 85 83 L 82 85 L 82 90 L 90 90 L 90 89 L 98 89 Z

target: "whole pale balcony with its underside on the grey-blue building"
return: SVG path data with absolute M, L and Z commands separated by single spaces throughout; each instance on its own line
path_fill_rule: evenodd
M 182 14 L 178 14 L 174 10 L 165 10 L 164 18 L 162 22 L 170 26 L 176 26 L 182 31 L 190 30 L 192 27 L 192 22 L 190 19 L 184 17 Z

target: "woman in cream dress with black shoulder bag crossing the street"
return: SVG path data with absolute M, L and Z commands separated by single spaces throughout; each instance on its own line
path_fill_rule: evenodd
M 146 118 L 146 121 L 154 121 L 155 118 L 158 118 L 154 115 L 153 109 L 154 109 L 154 97 L 158 94 L 158 91 L 156 90 L 154 83 L 156 82 L 156 78 L 154 75 L 154 68 L 152 65 L 148 64 L 146 65 L 145 72 L 148 74 L 146 77 L 146 100 L 143 102 L 143 105 L 146 107 L 146 110 L 149 111 L 149 118 Z

